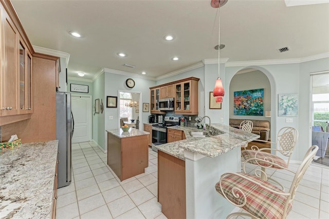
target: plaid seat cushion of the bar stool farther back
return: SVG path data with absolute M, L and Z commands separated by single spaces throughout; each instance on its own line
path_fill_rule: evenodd
M 249 158 L 255 158 L 255 156 L 256 156 L 256 158 L 265 159 L 267 161 L 272 161 L 271 159 L 273 159 L 273 162 L 279 166 L 275 166 L 275 165 L 271 166 L 269 163 L 262 162 L 260 160 L 257 160 L 257 162 L 255 160 L 249 160 L 249 163 L 251 163 L 253 165 L 260 165 L 263 167 L 271 166 L 271 168 L 276 168 L 276 169 L 281 169 L 281 167 L 288 168 L 288 165 L 284 161 L 284 159 L 282 159 L 276 155 L 267 153 L 267 152 L 262 152 L 262 151 L 259 151 L 258 153 L 257 152 L 258 152 L 257 150 L 243 150 L 243 151 L 241 151 L 241 156 L 246 160 Z M 257 153 L 257 155 L 256 155 L 256 153 Z M 268 158 L 268 157 L 270 157 L 270 158 Z

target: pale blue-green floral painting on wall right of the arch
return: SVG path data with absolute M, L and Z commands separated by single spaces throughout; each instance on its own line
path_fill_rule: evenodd
M 279 94 L 279 116 L 298 116 L 298 94 Z

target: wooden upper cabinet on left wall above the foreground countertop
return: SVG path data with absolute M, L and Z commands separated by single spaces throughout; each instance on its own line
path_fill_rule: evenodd
M 3 118 L 3 125 L 32 113 L 33 48 L 9 1 L 0 1 L 0 17 L 0 116 L 15 116 Z

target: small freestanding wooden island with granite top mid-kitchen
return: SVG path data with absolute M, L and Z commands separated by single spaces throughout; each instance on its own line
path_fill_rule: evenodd
M 130 128 L 107 132 L 107 165 L 122 181 L 145 172 L 149 166 L 149 132 Z

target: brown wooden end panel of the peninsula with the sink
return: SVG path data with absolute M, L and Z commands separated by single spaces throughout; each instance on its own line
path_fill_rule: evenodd
M 158 151 L 158 202 L 168 218 L 186 218 L 185 161 Z

